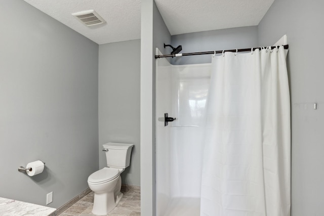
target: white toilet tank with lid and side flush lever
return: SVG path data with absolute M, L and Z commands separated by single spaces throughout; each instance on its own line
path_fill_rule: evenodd
M 126 168 L 130 165 L 133 144 L 107 143 L 102 145 L 106 151 L 107 166 Z

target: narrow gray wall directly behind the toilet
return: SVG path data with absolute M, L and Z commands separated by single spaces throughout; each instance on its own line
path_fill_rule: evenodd
M 107 166 L 102 144 L 131 143 L 123 184 L 140 186 L 141 41 L 99 46 L 99 168 Z

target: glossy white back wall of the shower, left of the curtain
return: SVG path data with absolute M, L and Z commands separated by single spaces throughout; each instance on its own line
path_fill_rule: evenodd
M 171 67 L 171 196 L 200 197 L 210 64 Z

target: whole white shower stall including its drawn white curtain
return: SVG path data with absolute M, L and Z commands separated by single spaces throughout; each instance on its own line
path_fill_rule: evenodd
M 157 216 L 290 215 L 287 48 L 156 60 Z

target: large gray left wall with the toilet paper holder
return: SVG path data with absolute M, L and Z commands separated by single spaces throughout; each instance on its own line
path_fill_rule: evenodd
M 0 196 L 60 207 L 98 170 L 98 45 L 21 0 L 0 0 Z M 19 166 L 41 159 L 42 174 Z

